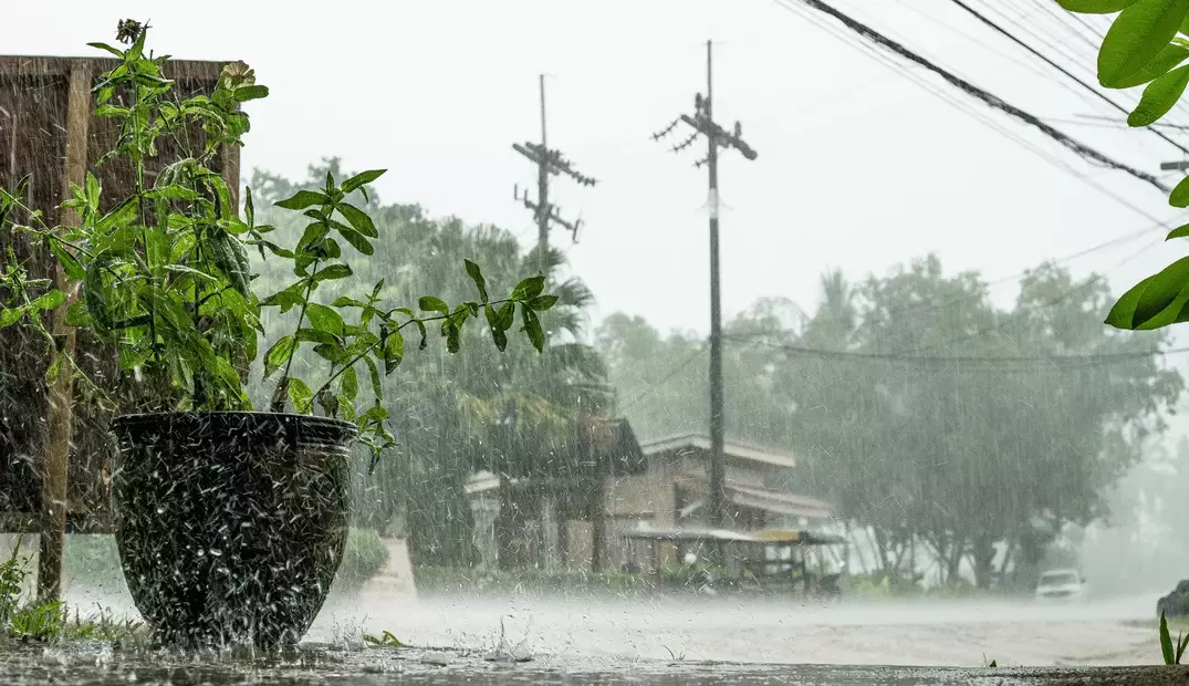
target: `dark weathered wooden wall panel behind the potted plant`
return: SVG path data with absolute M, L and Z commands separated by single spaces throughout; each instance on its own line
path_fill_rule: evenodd
M 93 84 L 115 64 L 111 58 L 0 56 L 0 185 L 11 188 L 29 175 L 32 204 L 45 213 L 48 221 L 67 224 L 71 219 L 59 216 L 55 208 L 65 199 L 70 183 L 82 182 L 86 170 L 102 182 L 108 204 L 132 193 L 134 180 L 127 161 L 96 165 L 119 136 L 117 124 L 92 115 L 93 99 L 89 94 L 80 96 L 80 84 Z M 213 89 L 224 64 L 168 62 L 165 75 L 177 82 L 178 96 L 188 97 Z M 73 119 L 71 78 L 76 83 Z M 80 113 L 78 107 L 87 109 Z M 193 144 L 201 145 L 201 131 L 191 136 Z M 74 145 L 68 144 L 71 140 Z M 150 184 L 157 170 L 176 159 L 178 152 L 170 144 L 161 146 L 147 169 Z M 218 166 L 234 191 L 239 187 L 239 150 L 224 151 Z M 36 276 L 51 278 L 52 263 L 46 254 L 31 251 L 24 238 L 13 241 L 0 235 L 0 251 L 10 244 L 18 256 L 29 259 Z M 114 355 L 93 338 L 78 335 L 76 355 L 105 391 L 120 398 L 121 410 L 134 411 L 144 401 L 144 394 L 132 382 L 120 380 Z M 18 327 L 0 329 L 0 529 L 39 528 L 43 490 L 50 487 L 54 492 L 55 486 L 43 483 L 42 476 L 50 473 L 51 480 L 67 484 L 69 527 L 106 530 L 114 449 L 107 432 L 111 414 L 76 388 L 70 403 L 74 421 L 69 459 L 65 465 L 54 465 L 52 459 L 46 464 L 50 389 L 43 377 L 50 359 L 43 339 Z

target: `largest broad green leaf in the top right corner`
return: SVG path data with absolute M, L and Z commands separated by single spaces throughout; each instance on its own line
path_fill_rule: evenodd
M 1107 31 L 1099 50 L 1099 83 L 1118 83 L 1147 67 L 1177 34 L 1189 14 L 1189 0 L 1137 0 Z

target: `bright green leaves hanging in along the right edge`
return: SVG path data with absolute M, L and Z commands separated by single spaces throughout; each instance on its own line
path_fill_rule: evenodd
M 1131 126 L 1150 126 L 1184 95 L 1189 86 L 1189 0 L 1057 0 L 1070 12 L 1118 12 L 1099 50 L 1099 83 L 1106 88 L 1144 86 Z M 1172 207 L 1189 207 L 1189 177 L 1172 189 Z M 1189 237 L 1189 225 L 1168 238 Z M 1189 321 L 1189 257 L 1128 290 L 1111 308 L 1106 322 L 1122 329 L 1155 329 Z

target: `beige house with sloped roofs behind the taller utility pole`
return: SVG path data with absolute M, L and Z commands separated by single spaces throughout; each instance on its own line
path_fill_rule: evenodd
M 677 545 L 656 548 L 623 534 L 706 525 L 710 439 L 687 434 L 637 445 L 627 421 L 621 422 L 621 434 L 622 454 L 603 457 L 600 468 L 577 478 L 474 474 L 466 491 L 482 564 L 650 569 L 677 560 Z M 731 529 L 805 528 L 831 518 L 829 503 L 773 486 L 797 465 L 793 457 L 737 441 L 725 442 L 724 455 Z M 499 523 L 502 512 L 509 515 L 508 527 Z M 503 542 L 501 535 L 507 536 Z

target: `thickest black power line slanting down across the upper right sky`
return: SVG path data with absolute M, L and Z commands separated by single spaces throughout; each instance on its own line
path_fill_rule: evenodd
M 938 76 L 940 76 L 942 78 L 944 78 L 945 81 L 948 81 L 951 86 L 954 86 L 954 87 L 956 87 L 956 88 L 965 92 L 967 94 L 969 94 L 969 95 L 971 95 L 971 96 L 981 100 L 982 102 L 984 102 L 989 107 L 993 107 L 995 109 L 1006 112 L 1007 114 L 1014 117 L 1015 119 L 1019 119 L 1020 121 L 1024 121 L 1025 124 L 1028 124 L 1030 126 L 1039 130 L 1042 133 L 1044 133 L 1049 138 L 1056 140 L 1061 145 L 1063 145 L 1067 149 L 1069 149 L 1072 152 L 1075 152 L 1078 157 L 1082 157 L 1083 159 L 1089 159 L 1089 161 L 1099 162 L 1099 163 L 1101 163 L 1101 164 L 1103 164 L 1106 166 L 1109 166 L 1112 169 L 1116 169 L 1119 171 L 1125 171 L 1125 172 L 1130 174 L 1131 176 L 1133 176 L 1133 177 L 1135 177 L 1135 178 L 1138 178 L 1140 181 L 1145 181 L 1145 182 L 1150 183 L 1151 185 L 1160 189 L 1163 193 L 1168 193 L 1169 191 L 1169 188 L 1166 185 L 1164 185 L 1164 183 L 1162 183 L 1160 180 L 1158 180 L 1157 177 L 1152 176 L 1151 174 L 1146 174 L 1146 172 L 1140 171 L 1138 169 L 1134 169 L 1134 168 L 1132 168 L 1132 166 L 1130 166 L 1127 164 L 1124 164 L 1121 162 L 1112 159 L 1111 157 L 1103 155 L 1102 152 L 1099 152 L 1097 150 L 1095 150 L 1095 149 L 1093 149 L 1093 147 L 1090 147 L 1090 146 L 1088 146 L 1088 145 L 1086 145 L 1086 144 L 1083 144 L 1083 143 L 1074 139 L 1072 137 L 1070 137 L 1070 136 L 1068 136 L 1065 133 L 1062 133 L 1057 128 L 1053 128 L 1052 126 L 1049 126 L 1048 124 L 1045 124 L 1044 121 L 1042 121 L 1039 118 L 1037 118 L 1037 117 L 1034 117 L 1034 115 L 1025 112 L 1024 109 L 1020 109 L 1019 107 L 1015 107 L 1015 106 L 1006 102 L 1001 97 L 999 97 L 996 95 L 993 95 L 993 94 L 988 93 L 987 90 L 984 90 L 982 88 L 979 88 L 977 86 L 970 83 L 969 81 L 965 81 L 964 78 L 961 78 L 961 77 L 956 76 L 951 71 L 949 71 L 946 69 L 943 69 L 943 68 L 938 67 L 937 64 L 933 64 L 929 59 L 925 59 L 920 55 L 913 52 L 912 50 L 908 50 L 907 48 L 905 48 L 900 43 L 898 43 L 898 42 L 888 38 L 887 36 L 880 33 L 879 31 L 875 31 L 874 29 L 867 26 L 866 24 L 856 21 L 855 19 L 853 19 L 849 15 L 839 12 L 838 10 L 835 10 L 832 6 L 826 5 L 825 2 L 822 2 L 820 0 L 774 0 L 774 1 L 776 2 L 778 6 L 780 6 L 780 7 L 785 8 L 785 10 L 789 10 L 789 6 L 786 2 L 794 2 L 794 1 L 797 1 L 797 2 L 801 2 L 803 5 L 806 5 L 806 6 L 811 7 L 811 8 L 816 10 L 816 11 L 818 11 L 818 12 L 822 12 L 824 14 L 829 14 L 830 17 L 832 17 L 832 18 L 837 19 L 838 21 L 841 21 L 847 29 L 849 29 L 854 33 L 857 33 L 858 36 L 861 36 L 861 37 L 863 37 L 863 38 L 866 38 L 868 40 L 872 40 L 872 42 L 876 43 L 881 48 L 883 48 L 886 50 L 889 50 L 889 51 L 899 55 L 900 57 L 904 57 L 905 59 L 908 59 L 908 61 L 911 61 L 911 62 L 913 62 L 916 64 L 919 64 L 920 67 L 924 67 L 925 69 L 932 71 L 933 74 L 937 74 Z

